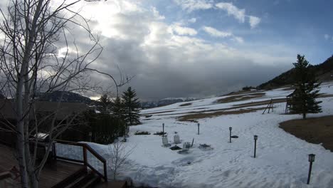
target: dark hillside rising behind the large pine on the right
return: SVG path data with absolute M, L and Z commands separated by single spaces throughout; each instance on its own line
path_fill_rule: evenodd
M 314 71 L 317 79 L 319 81 L 329 81 L 333 80 L 333 56 L 328 58 L 324 63 L 321 63 L 316 66 L 311 66 L 312 70 Z M 266 83 L 258 85 L 258 89 L 273 89 L 278 88 L 284 85 L 292 85 L 295 83 L 295 80 L 292 76 L 294 72 L 294 68 L 290 69 L 289 71 L 278 75 L 277 77 L 269 80 Z

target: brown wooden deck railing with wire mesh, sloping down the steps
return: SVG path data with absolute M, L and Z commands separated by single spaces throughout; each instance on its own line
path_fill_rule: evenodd
M 53 143 L 53 156 L 60 160 L 83 163 L 107 182 L 107 162 L 88 144 L 56 140 Z

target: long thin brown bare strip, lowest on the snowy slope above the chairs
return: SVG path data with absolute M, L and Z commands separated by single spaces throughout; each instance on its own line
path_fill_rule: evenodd
M 198 119 L 217 117 L 220 115 L 235 115 L 235 114 L 243 114 L 243 113 L 252 113 L 257 110 L 263 110 L 265 108 L 250 108 L 250 109 L 240 109 L 240 110 L 231 110 L 231 111 L 216 111 L 213 113 L 194 113 L 183 115 L 178 117 L 179 121 L 189 121 L 189 122 L 197 122 Z

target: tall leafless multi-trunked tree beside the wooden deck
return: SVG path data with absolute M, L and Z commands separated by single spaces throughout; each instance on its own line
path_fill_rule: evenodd
M 89 1 L 89 0 L 87 0 Z M 29 137 L 38 133 L 43 119 L 31 127 L 31 116 L 36 114 L 37 93 L 56 90 L 93 90 L 90 84 L 90 68 L 102 53 L 100 38 L 93 36 L 88 21 L 73 6 L 80 0 L 11 0 L 6 9 L 0 9 L 0 89 L 13 99 L 16 123 L 6 123 L 6 128 L 16 133 L 16 152 L 21 173 L 21 187 L 38 187 L 41 163 L 36 164 L 36 145 L 29 148 Z M 78 26 L 90 40 L 88 48 L 82 48 L 75 40 L 70 42 L 70 26 Z M 59 51 L 62 49 L 62 53 Z M 102 73 L 111 78 L 112 75 Z M 58 105 L 60 107 L 60 103 Z M 77 115 L 68 115 L 63 122 L 56 121 L 58 111 L 48 115 L 51 150 L 55 140 L 68 126 L 75 124 Z

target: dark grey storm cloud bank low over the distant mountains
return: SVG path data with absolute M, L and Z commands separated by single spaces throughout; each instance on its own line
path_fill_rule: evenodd
M 265 66 L 250 58 L 208 58 L 207 51 L 186 54 L 181 48 L 174 51 L 166 47 L 147 51 L 132 40 L 113 38 L 104 42 L 107 46 L 97 68 L 118 75 L 118 65 L 122 73 L 134 75 L 129 85 L 144 99 L 219 95 L 258 85 L 290 68 L 281 62 Z M 191 56 L 196 59 L 191 60 Z

